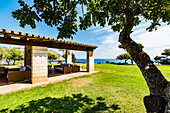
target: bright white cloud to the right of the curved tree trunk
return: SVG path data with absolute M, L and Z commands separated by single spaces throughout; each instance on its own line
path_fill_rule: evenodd
M 160 55 L 164 49 L 170 48 L 170 26 L 160 27 L 157 31 L 136 35 L 133 38 L 136 42 L 144 45 L 144 50 L 151 56 Z

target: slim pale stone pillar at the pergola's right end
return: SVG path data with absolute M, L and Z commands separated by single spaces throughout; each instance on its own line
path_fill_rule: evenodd
M 94 71 L 94 51 L 87 51 L 87 71 Z

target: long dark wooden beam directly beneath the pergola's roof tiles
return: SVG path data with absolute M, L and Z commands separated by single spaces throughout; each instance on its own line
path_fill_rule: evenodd
M 21 39 L 16 39 L 16 38 L 6 39 L 5 37 L 0 37 L 0 43 L 13 44 L 13 45 L 42 46 L 48 48 L 70 49 L 70 50 L 78 50 L 78 51 L 92 51 L 97 48 L 97 46 L 88 47 L 83 44 L 81 45 L 78 43 L 64 43 L 64 42 L 60 42 L 60 41 L 58 42 L 53 40 L 49 40 L 49 41 L 43 41 L 39 39 L 23 40 L 23 37 Z

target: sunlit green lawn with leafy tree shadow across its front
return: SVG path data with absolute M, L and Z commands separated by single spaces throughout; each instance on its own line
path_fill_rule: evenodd
M 170 80 L 170 66 L 158 66 Z M 144 113 L 148 88 L 136 65 L 95 64 L 97 74 L 0 95 L 0 112 Z

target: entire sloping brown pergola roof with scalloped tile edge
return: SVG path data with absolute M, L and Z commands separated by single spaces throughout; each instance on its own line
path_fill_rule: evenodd
M 23 34 L 22 32 L 15 33 L 14 31 L 7 32 L 5 29 L 0 30 L 0 35 L 4 36 L 0 37 L 0 43 L 4 44 L 43 46 L 80 51 L 92 51 L 97 48 L 97 46 L 47 38 L 45 36 L 41 37 L 39 35 L 35 36 L 34 34 L 29 35 L 28 33 Z M 12 37 L 18 37 L 19 39 Z

